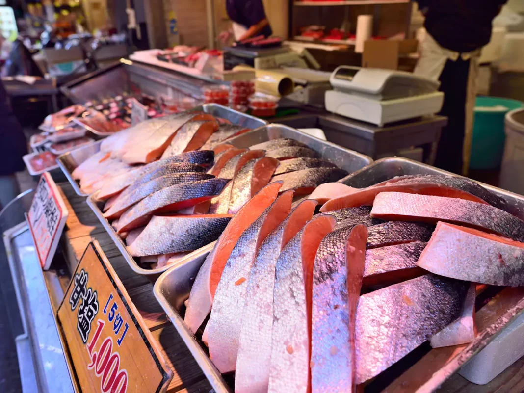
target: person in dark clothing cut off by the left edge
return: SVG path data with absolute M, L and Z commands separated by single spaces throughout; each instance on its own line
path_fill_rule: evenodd
M 15 172 L 24 170 L 27 140 L 0 81 L 0 209 L 19 193 Z

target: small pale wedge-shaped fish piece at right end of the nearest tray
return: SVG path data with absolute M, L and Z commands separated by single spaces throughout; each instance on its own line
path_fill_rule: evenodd
M 461 345 L 475 340 L 475 298 L 477 285 L 472 282 L 467 290 L 459 319 L 451 322 L 440 332 L 431 337 L 430 344 L 433 348 L 443 346 Z

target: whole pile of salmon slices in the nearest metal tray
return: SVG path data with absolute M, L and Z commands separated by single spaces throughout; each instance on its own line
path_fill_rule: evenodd
M 473 181 L 325 183 L 293 205 L 285 186 L 233 215 L 186 303 L 235 392 L 354 391 L 426 341 L 472 342 L 477 292 L 524 285 L 524 222 Z

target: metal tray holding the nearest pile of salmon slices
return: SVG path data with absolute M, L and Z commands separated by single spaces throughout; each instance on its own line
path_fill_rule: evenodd
M 272 126 L 273 125 L 269 125 L 268 127 Z M 248 134 L 246 133 L 245 135 Z M 352 185 L 353 187 L 366 187 L 367 185 L 372 185 L 403 174 L 451 174 L 452 176 L 456 176 L 450 172 L 442 171 L 420 162 L 405 158 L 391 157 L 375 161 L 372 165 L 356 171 L 346 177 L 344 183 Z M 490 191 L 506 198 L 510 203 L 514 204 L 521 213 L 524 212 L 524 196 L 485 184 L 483 185 Z M 183 265 L 179 264 L 178 266 L 170 267 L 170 269 L 163 273 L 155 282 L 154 293 L 158 302 L 169 316 L 172 324 L 193 354 L 196 362 L 198 362 L 202 371 L 206 377 L 208 377 L 211 386 L 217 393 L 225 393 L 233 391 L 232 386 L 226 384 L 220 372 L 209 359 L 208 352 L 206 352 L 205 346 L 201 344 L 200 337 L 196 337 L 192 334 L 183 321 L 183 316 L 185 314 L 184 301 L 189 298 L 189 293 L 196 274 L 204 263 L 205 257 L 211 251 L 211 248 L 212 247 L 210 246 L 207 250 L 201 250 L 199 254 L 193 255 L 190 260 L 188 258 Z M 441 368 L 430 370 L 430 372 L 426 373 L 427 375 L 422 377 L 419 376 L 419 379 L 427 377 L 427 379 L 421 380 L 421 385 L 423 386 L 413 387 L 409 380 L 401 379 L 405 378 L 405 376 L 403 370 L 399 370 L 397 373 L 400 378 L 398 378 L 394 384 L 390 384 L 385 391 L 389 391 L 389 387 L 392 387 L 391 391 L 402 391 L 402 393 L 433 392 L 438 389 L 447 378 L 457 372 L 457 370 L 459 370 L 469 359 L 493 340 L 508 323 L 522 313 L 524 310 L 524 292 L 522 293 L 523 297 L 514 302 L 511 307 L 503 312 L 494 313 L 498 316 L 496 321 L 491 324 L 488 329 L 478 332 L 475 341 L 465 346 L 462 351 L 454 350 L 454 348 L 457 347 L 445 347 L 432 350 L 438 351 L 438 357 L 435 355 L 435 362 L 429 363 L 427 367 L 424 367 L 429 369 L 430 367 L 435 367 L 434 364 L 439 364 L 438 362 L 441 362 Z M 432 352 L 429 354 L 431 353 Z M 425 358 L 422 358 L 419 362 L 424 361 L 424 359 Z M 445 363 L 442 363 L 443 359 L 446 361 Z M 428 363 L 428 361 L 425 360 L 425 363 Z M 416 370 L 414 367 L 416 367 L 417 364 L 418 363 L 415 363 L 412 368 L 406 367 L 407 372 L 410 372 L 410 374 L 417 374 L 413 371 Z M 392 379 L 389 380 L 391 381 Z M 398 385 L 402 385 L 402 387 L 400 390 L 396 390 L 395 385 L 397 388 L 399 387 Z M 384 387 L 385 386 L 377 390 L 368 389 L 368 391 L 381 391 Z

